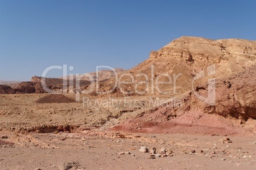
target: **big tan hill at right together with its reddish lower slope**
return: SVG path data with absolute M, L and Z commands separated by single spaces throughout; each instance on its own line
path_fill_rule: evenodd
M 152 51 L 148 60 L 129 72 L 150 75 L 152 65 L 155 77 L 181 74 L 175 86 L 162 86 L 175 88 L 176 93 L 169 96 L 180 103 L 152 108 L 113 129 L 236 133 L 237 127 L 247 126 L 248 131 L 256 132 L 256 41 L 180 37 Z M 210 103 L 207 98 L 213 92 Z

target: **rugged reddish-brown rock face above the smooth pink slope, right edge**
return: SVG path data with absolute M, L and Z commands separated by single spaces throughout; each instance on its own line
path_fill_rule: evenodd
M 215 84 L 215 105 L 210 107 L 197 96 L 190 100 L 191 109 L 206 113 L 236 117 L 247 120 L 256 119 L 256 65 L 225 79 L 217 79 Z M 207 93 L 208 84 L 204 82 L 202 94 Z

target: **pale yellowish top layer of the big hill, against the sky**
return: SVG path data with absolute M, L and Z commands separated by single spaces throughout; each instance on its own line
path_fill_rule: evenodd
M 152 51 L 150 58 L 171 56 L 220 63 L 222 60 L 239 60 L 241 57 L 256 61 L 256 42 L 243 39 L 210 40 L 201 37 L 180 37 L 159 51 Z M 249 62 L 249 63 L 252 63 Z

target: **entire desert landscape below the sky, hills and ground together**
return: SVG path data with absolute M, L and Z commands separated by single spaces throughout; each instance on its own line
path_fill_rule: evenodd
M 256 41 L 180 37 L 111 71 L 0 85 L 0 169 L 256 169 Z

